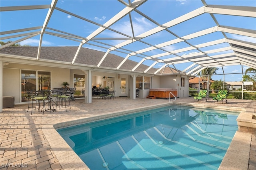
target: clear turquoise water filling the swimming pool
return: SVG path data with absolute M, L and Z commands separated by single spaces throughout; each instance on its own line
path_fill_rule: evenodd
M 58 132 L 91 170 L 217 170 L 237 117 L 171 105 Z

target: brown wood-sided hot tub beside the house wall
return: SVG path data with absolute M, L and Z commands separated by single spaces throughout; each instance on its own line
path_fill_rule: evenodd
M 149 89 L 149 95 L 150 96 L 156 96 L 156 98 L 158 99 L 169 99 L 169 93 L 172 92 L 170 94 L 171 98 L 174 98 L 174 96 L 172 94 L 175 95 L 175 97 L 177 96 L 177 89 Z

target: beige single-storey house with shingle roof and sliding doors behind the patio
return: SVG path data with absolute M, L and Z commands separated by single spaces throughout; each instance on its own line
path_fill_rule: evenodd
M 27 89 L 60 88 L 63 82 L 68 82 L 69 87 L 77 87 L 85 93 L 85 103 L 92 103 L 92 89 L 99 84 L 102 88 L 110 86 L 111 91 L 116 90 L 116 96 L 128 96 L 131 99 L 136 99 L 136 89 L 140 89 L 139 97 L 144 98 L 150 88 L 179 89 L 180 97 L 188 97 L 188 76 L 185 73 L 178 74 L 176 69 L 166 66 L 158 70 L 152 67 L 144 72 L 148 69 L 147 65 L 140 64 L 136 67 L 138 63 L 129 59 L 116 69 L 123 57 L 108 53 L 102 60 L 105 52 L 83 47 L 73 61 L 77 49 L 78 47 L 41 47 L 39 57 L 38 47 L 0 49 L 2 95 L 14 96 L 15 103 L 18 104 L 27 101 Z M 134 67 L 136 69 L 131 71 Z M 79 84 L 78 79 L 84 83 Z

